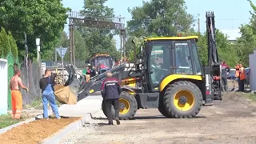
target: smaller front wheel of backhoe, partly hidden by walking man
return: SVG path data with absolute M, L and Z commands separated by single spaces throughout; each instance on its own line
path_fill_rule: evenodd
M 119 119 L 128 120 L 134 118 L 136 111 L 138 109 L 138 104 L 134 95 L 122 91 L 119 98 Z M 102 102 L 102 111 L 106 115 L 106 105 Z M 111 113 L 114 116 L 114 106 L 111 106 Z

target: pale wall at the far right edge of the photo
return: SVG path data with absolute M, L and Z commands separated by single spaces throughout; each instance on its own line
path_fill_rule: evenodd
M 250 90 L 256 90 L 256 50 L 249 55 L 250 64 Z

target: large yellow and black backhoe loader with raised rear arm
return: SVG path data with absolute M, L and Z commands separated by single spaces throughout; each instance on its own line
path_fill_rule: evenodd
M 134 67 L 126 63 L 108 70 L 122 82 L 120 119 L 134 118 L 138 109 L 158 108 L 166 118 L 194 118 L 202 105 L 212 105 L 221 98 L 221 67 L 216 47 L 214 12 L 206 12 L 208 66 L 202 67 L 198 56 L 198 36 L 146 38 Z M 71 66 L 72 67 L 72 66 Z M 74 69 L 74 66 L 73 68 Z M 71 70 L 75 71 L 75 70 Z M 74 87 L 70 73 L 66 86 L 76 90 L 78 101 L 100 90 L 106 72 Z M 56 94 L 58 97 L 58 94 Z M 105 102 L 102 110 L 106 114 Z M 114 108 L 112 108 L 114 114 Z

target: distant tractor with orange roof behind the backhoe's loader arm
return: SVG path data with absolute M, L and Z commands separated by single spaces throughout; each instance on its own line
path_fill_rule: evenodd
M 90 66 L 94 67 L 96 74 L 102 74 L 113 67 L 113 59 L 109 54 L 95 54 L 90 59 Z

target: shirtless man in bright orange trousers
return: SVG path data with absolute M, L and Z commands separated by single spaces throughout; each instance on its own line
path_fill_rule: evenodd
M 28 92 L 28 88 L 22 84 L 22 79 L 19 78 L 21 70 L 15 70 L 15 75 L 10 79 L 12 117 L 20 119 L 22 115 L 22 93 L 19 86 Z

